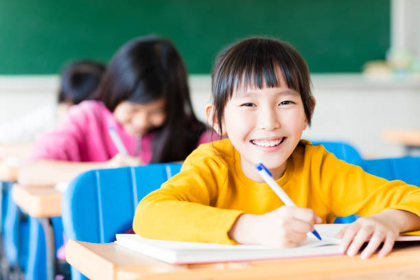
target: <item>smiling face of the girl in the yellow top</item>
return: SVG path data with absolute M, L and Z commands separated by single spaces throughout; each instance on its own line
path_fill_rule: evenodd
M 301 95 L 284 80 L 279 87 L 234 92 L 222 128 L 241 155 L 245 176 L 261 182 L 255 165 L 263 163 L 277 180 L 307 128 Z

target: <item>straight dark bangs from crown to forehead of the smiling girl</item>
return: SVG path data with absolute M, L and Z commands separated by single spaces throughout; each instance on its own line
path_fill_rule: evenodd
M 305 79 L 298 67 L 301 63 L 282 45 L 255 40 L 236 45 L 222 56 L 224 61 L 216 69 L 218 75 L 213 77 L 213 94 L 222 97 L 224 102 L 228 102 L 234 92 L 244 89 L 287 85 L 300 93 L 303 88 Z

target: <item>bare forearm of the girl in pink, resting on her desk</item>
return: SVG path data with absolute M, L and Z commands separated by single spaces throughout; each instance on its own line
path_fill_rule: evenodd
M 60 182 L 69 182 L 82 172 L 104 168 L 105 164 L 106 162 L 75 163 L 40 160 L 21 167 L 18 181 L 22 185 L 55 185 Z

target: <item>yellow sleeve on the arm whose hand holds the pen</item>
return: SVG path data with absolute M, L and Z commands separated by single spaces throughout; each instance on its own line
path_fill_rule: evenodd
M 161 240 L 235 243 L 227 233 L 242 211 L 211 206 L 226 183 L 227 167 L 202 150 L 203 145 L 187 157 L 179 174 L 141 200 L 135 233 Z

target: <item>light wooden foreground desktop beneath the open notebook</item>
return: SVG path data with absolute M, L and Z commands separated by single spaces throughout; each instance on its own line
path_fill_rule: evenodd
M 66 259 L 90 279 L 418 279 L 420 242 L 384 259 L 334 256 L 225 264 L 171 265 L 117 244 L 69 240 Z M 404 246 L 406 248 L 404 248 Z

